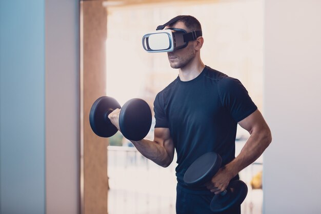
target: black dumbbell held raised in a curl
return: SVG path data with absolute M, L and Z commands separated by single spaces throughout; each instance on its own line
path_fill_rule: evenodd
M 108 115 L 116 108 L 121 108 L 119 128 L 124 137 L 132 141 L 144 139 L 152 124 L 152 112 L 149 105 L 138 98 L 127 101 L 123 107 L 110 96 L 98 98 L 89 113 L 89 122 L 93 132 L 99 137 L 109 138 L 118 131 L 108 118 Z

